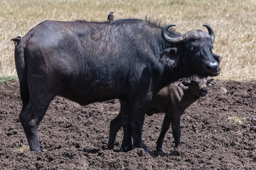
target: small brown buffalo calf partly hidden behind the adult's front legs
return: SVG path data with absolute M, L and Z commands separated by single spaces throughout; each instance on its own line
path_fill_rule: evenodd
M 156 149 L 164 152 L 162 148 L 164 142 L 164 135 L 171 125 L 174 135 L 174 153 L 179 154 L 181 145 L 181 115 L 185 109 L 188 108 L 201 96 L 206 96 L 208 87 L 215 84 L 214 79 L 200 78 L 193 76 L 189 81 L 176 81 L 169 86 L 164 87 L 156 94 L 151 101 L 147 115 L 153 113 L 166 113 L 164 122 L 161 128 L 160 136 L 156 142 Z M 121 115 L 117 115 L 110 123 L 110 138 L 108 142 L 108 149 L 114 148 L 114 140 L 118 130 L 122 127 Z

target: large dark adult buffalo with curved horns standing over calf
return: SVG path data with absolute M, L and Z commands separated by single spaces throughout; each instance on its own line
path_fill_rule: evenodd
M 15 62 L 23 107 L 19 119 L 33 151 L 41 151 L 37 128 L 56 95 L 85 106 L 119 98 L 123 149 L 142 142 L 152 95 L 181 77 L 217 76 L 210 26 L 175 33 L 150 21 L 111 23 L 44 21 L 18 42 Z

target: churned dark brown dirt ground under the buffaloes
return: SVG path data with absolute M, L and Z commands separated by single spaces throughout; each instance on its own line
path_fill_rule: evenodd
M 107 149 L 110 120 L 119 101 L 80 106 L 55 97 L 38 133 L 43 152 L 30 152 L 18 120 L 21 98 L 17 81 L 0 83 L 0 169 L 256 169 L 256 81 L 217 81 L 207 96 L 189 107 L 181 120 L 181 155 L 172 154 L 174 138 L 166 133 L 166 154 L 155 151 L 164 114 L 146 116 L 144 143 L 151 152 Z

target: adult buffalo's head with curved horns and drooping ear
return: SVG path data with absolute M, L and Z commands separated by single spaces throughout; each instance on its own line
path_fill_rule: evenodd
M 181 64 L 183 76 L 198 74 L 201 77 L 214 77 L 220 74 L 220 57 L 213 54 L 215 34 L 208 25 L 208 33 L 204 30 L 189 30 L 180 37 L 173 38 L 167 30 L 174 25 L 167 25 L 161 34 L 164 40 L 174 45 L 161 53 L 160 61 L 171 68 Z

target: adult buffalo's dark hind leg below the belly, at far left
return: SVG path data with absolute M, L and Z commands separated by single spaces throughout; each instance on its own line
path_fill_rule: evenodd
M 47 101 L 38 101 L 36 98 L 30 98 L 28 104 L 19 115 L 19 120 L 23 126 L 31 151 L 41 152 L 38 140 L 38 124 L 46 114 L 51 100 L 52 98 L 49 98 Z

